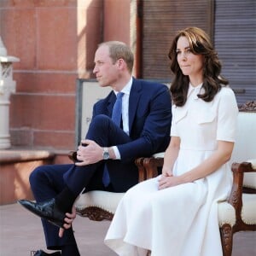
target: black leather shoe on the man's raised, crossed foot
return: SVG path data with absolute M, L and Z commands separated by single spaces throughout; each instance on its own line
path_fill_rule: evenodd
M 28 200 L 19 200 L 18 203 L 22 207 L 25 207 L 28 211 L 38 215 L 40 218 L 48 220 L 51 224 L 62 228 L 64 224 L 65 212 L 56 206 L 55 199 L 36 203 Z

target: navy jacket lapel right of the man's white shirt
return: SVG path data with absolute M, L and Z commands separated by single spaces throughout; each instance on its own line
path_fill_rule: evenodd
M 129 131 L 131 132 L 131 126 L 133 124 L 135 113 L 137 110 L 137 104 L 141 97 L 141 82 L 137 79 L 133 79 L 131 84 L 131 91 L 129 97 Z

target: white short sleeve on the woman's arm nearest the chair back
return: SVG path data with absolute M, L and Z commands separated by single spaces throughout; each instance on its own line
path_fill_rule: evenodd
M 235 142 L 238 108 L 236 96 L 228 87 L 219 92 L 217 140 Z

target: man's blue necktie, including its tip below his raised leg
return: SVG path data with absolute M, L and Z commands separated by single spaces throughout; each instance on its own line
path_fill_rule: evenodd
M 124 92 L 119 92 L 117 94 L 116 101 L 113 105 L 113 111 L 112 111 L 113 122 L 118 126 L 120 126 L 121 118 L 122 118 L 122 96 L 123 95 L 124 95 Z M 109 177 L 107 165 L 104 166 L 102 182 L 105 187 L 108 187 L 110 183 L 110 177 Z

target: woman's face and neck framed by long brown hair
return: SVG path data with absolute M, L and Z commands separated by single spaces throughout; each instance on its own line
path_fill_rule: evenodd
M 203 79 L 203 55 L 195 55 L 189 47 L 189 40 L 180 37 L 177 40 L 177 63 L 183 74 L 189 76 L 194 86 L 201 84 Z

